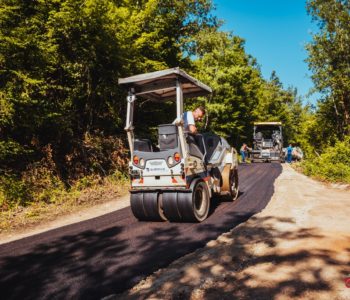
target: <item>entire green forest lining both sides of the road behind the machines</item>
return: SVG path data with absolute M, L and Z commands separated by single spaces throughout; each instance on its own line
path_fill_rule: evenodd
M 125 173 L 118 78 L 177 66 L 213 89 L 186 102 L 206 107 L 203 130 L 238 147 L 251 143 L 254 121 L 282 121 L 285 140 L 305 151 L 305 172 L 327 177 L 332 165 L 331 178 L 350 181 L 350 4 L 309 0 L 307 10 L 319 26 L 307 45 L 316 107 L 275 72 L 263 78 L 210 0 L 0 0 L 1 209 Z M 139 106 L 143 128 L 168 116 L 168 106 Z

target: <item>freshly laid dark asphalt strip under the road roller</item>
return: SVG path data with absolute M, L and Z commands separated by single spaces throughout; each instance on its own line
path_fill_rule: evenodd
M 261 211 L 279 164 L 241 165 L 239 198 L 200 224 L 138 222 L 130 207 L 0 246 L 1 299 L 100 299 L 132 287 Z

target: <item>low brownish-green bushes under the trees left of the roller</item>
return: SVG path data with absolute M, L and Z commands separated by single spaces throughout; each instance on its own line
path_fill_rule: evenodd
M 1 144 L 0 144 L 1 146 Z M 33 203 L 61 203 L 66 197 L 107 179 L 112 184 L 125 181 L 128 150 L 123 141 L 103 133 L 85 134 L 73 151 L 59 161 L 50 144 L 41 149 L 42 159 L 25 170 L 0 171 L 0 210 Z M 62 178 L 65 169 L 68 179 Z

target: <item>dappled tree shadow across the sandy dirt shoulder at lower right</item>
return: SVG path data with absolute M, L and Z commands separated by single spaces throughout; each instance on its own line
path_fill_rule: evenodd
M 232 218 L 237 217 L 234 213 L 230 215 Z M 283 228 L 283 224 L 294 222 L 291 218 L 253 217 L 249 224 L 242 224 L 229 234 L 232 238 L 232 246 L 225 246 L 226 249 L 220 252 L 221 255 L 226 256 L 225 260 L 208 251 L 205 254 L 205 261 L 191 260 L 196 269 L 194 271 L 196 280 L 189 280 L 185 272 L 179 273 L 175 279 L 173 277 L 165 279 L 162 284 L 167 286 L 166 289 L 164 288 L 168 291 L 167 298 L 190 299 L 193 291 L 198 288 L 198 281 L 202 282 L 202 287 L 206 286 L 205 281 L 209 282 L 207 285 L 209 288 L 202 288 L 204 292 L 200 293 L 198 299 L 318 299 L 320 294 L 312 293 L 329 291 L 339 293 L 341 291 L 339 286 L 342 286 L 345 292 L 343 281 L 349 277 L 350 270 L 344 259 L 339 259 L 339 250 L 322 249 L 321 245 L 311 250 L 299 248 L 274 251 L 281 240 L 289 241 L 291 244 L 302 244 L 306 239 L 312 238 L 321 242 L 323 236 L 317 234 L 315 228 L 278 230 L 272 226 L 279 223 Z M 229 224 L 226 223 L 226 225 Z M 288 228 L 288 225 L 285 228 Z M 247 247 L 252 245 L 252 241 L 256 241 L 254 249 L 267 248 L 270 250 L 267 251 L 269 253 L 259 254 L 252 251 Z M 350 243 L 350 239 L 348 242 Z M 343 249 L 342 253 L 349 257 L 350 248 Z M 228 256 L 230 259 L 227 258 Z M 220 266 L 221 275 L 212 268 L 215 265 Z M 257 268 L 254 273 L 253 268 Z M 331 279 L 330 274 L 332 274 Z M 216 284 L 215 278 L 218 282 Z M 269 281 L 269 278 L 272 280 Z M 338 283 L 338 287 L 332 286 L 333 283 Z M 161 287 L 159 282 L 153 281 L 147 289 L 125 292 L 122 295 L 116 295 L 113 299 L 119 299 L 119 296 L 120 299 L 148 299 L 150 296 L 163 299 L 164 290 L 162 291 Z M 323 294 L 323 298 L 326 299 L 327 295 Z

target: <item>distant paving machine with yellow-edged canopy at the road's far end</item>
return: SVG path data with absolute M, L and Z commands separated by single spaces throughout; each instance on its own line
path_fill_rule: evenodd
M 281 122 L 255 122 L 251 162 L 285 161 Z

